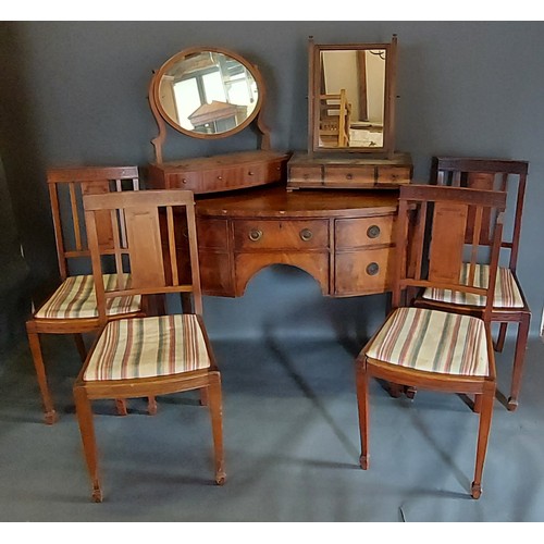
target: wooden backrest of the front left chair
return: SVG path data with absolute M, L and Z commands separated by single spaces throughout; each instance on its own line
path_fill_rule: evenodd
M 139 190 L 83 197 L 99 318 L 108 298 L 186 293 L 202 313 L 195 200 L 190 190 Z M 118 285 L 106 290 L 107 256 L 99 245 L 99 219 L 109 217 Z M 110 263 L 111 264 L 111 263 Z

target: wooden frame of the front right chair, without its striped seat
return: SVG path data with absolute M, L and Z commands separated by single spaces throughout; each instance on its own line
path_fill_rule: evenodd
M 438 286 L 461 293 L 479 293 L 485 296 L 485 307 L 480 317 L 483 319 L 486 335 L 487 371 L 483 375 L 454 374 L 449 373 L 446 368 L 442 372 L 431 372 L 419 369 L 417 360 L 413 361 L 411 367 L 371 357 L 369 355 L 370 347 L 375 342 L 380 332 L 378 331 L 356 359 L 356 387 L 361 440 L 360 466 L 362 469 L 368 469 L 370 461 L 369 380 L 371 378 L 385 380 L 392 384 L 401 384 L 410 390 L 429 388 L 444 393 L 471 394 L 475 396 L 478 407 L 475 411 L 479 411 L 480 415 L 471 496 L 473 498 L 480 497 L 496 387 L 495 359 L 491 337 L 491 313 L 503 230 L 502 212 L 505 207 L 506 193 L 433 186 L 409 186 L 400 189 L 396 228 L 398 254 L 393 285 L 393 311 L 400 306 L 410 306 L 412 300 L 406 296 L 406 293 L 409 288 L 420 286 Z M 494 218 L 493 223 L 490 225 L 493 244 L 489 252 L 491 272 L 486 288 L 465 285 L 459 274 L 463 263 L 463 256 L 459 248 L 465 245 L 467 226 L 471 226 L 473 230 L 471 242 L 477 246 L 481 243 L 482 222 L 470 223 L 469 208 L 477 210 L 475 217 L 481 218 L 482 210 L 485 209 L 491 212 L 489 217 Z M 418 215 L 420 219 L 415 219 Z M 429 230 L 429 237 L 422 236 L 421 228 L 418 227 L 423 223 Z M 410 233 L 415 226 L 417 228 L 416 235 L 411 236 Z M 426 250 L 429 239 L 432 240 L 431 244 L 433 245 L 431 251 Z M 412 256 L 408 255 L 408 251 L 417 255 L 419 260 L 413 260 Z M 469 251 L 469 265 L 473 267 L 478 254 L 477 251 Z M 430 272 L 428 273 L 428 271 Z M 454 310 L 449 311 L 453 312 Z M 441 332 L 437 331 L 436 334 L 440 335 Z M 424 338 L 421 342 L 424 342 Z M 424 350 L 424 347 L 421 347 L 421 350 Z M 469 355 L 477 356 L 475 351 Z

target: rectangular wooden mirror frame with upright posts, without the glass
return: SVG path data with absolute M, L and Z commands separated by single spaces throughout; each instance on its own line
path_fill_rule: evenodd
M 319 100 L 321 95 L 322 51 L 366 51 L 385 50 L 385 89 L 382 147 L 323 147 L 319 145 Z M 309 37 L 309 81 L 308 81 L 308 154 L 313 153 L 372 153 L 393 157 L 395 153 L 395 101 L 396 101 L 397 36 L 391 44 L 314 44 Z

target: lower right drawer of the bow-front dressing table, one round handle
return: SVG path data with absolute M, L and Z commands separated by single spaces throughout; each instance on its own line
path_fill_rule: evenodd
M 336 254 L 335 295 L 371 295 L 391 290 L 394 260 L 394 247 Z

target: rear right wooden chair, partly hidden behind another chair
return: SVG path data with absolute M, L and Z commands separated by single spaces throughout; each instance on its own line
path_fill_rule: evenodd
M 531 322 L 531 310 L 516 274 L 528 169 L 529 164 L 524 161 L 435 157 L 431 172 L 431 183 L 436 185 L 504 190 L 509 194 L 508 202 L 509 206 L 510 202 L 512 205 L 512 213 L 508 215 L 512 215 L 512 222 L 511 227 L 507 230 L 508 232 L 505 228 L 506 234 L 503 234 L 503 255 L 500 256 L 503 261 L 499 258 L 491 316 L 492 321 L 500 323 L 494 345 L 497 351 L 503 350 L 508 323 L 518 323 L 510 394 L 507 400 L 508 410 L 515 410 L 518 407 Z M 482 273 L 485 274 L 484 269 L 482 269 Z M 487 277 L 482 276 L 482 281 L 487 281 Z M 445 294 L 443 289 L 428 289 L 418 304 L 445 309 L 458 306 L 470 306 L 474 309 L 474 307 L 481 308 L 483 304 L 482 300 L 474 297 L 456 296 L 452 298 L 449 295 Z

